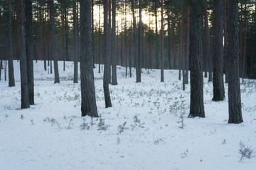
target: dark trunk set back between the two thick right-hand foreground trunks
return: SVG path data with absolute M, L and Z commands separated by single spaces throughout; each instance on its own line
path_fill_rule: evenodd
M 223 81 L 223 0 L 214 0 L 214 6 L 213 101 L 223 101 L 225 98 Z

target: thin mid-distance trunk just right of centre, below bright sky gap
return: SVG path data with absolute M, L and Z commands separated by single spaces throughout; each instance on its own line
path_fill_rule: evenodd
M 142 72 L 141 72 L 141 59 L 142 59 L 142 0 L 139 0 L 139 55 L 137 58 L 136 71 L 138 72 L 138 77 L 136 77 L 136 82 L 142 82 Z

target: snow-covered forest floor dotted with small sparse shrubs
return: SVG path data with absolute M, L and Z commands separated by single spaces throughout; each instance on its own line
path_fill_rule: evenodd
M 0 169 L 255 169 L 256 157 L 242 159 L 240 142 L 256 151 L 256 81 L 241 84 L 244 123 L 229 125 L 228 100 L 213 102 L 205 79 L 206 118 L 187 118 L 190 86 L 182 91 L 178 72 L 143 70 L 142 83 L 125 78 L 110 85 L 105 108 L 102 73 L 95 68 L 100 118 L 80 117 L 80 84 L 73 63 L 59 62 L 60 84 L 34 62 L 36 105 L 21 110 L 18 62 L 16 87 L 0 81 Z M 3 75 L 2 75 L 3 76 Z M 225 96 L 228 98 L 227 84 Z M 183 128 L 181 119 L 185 124 Z

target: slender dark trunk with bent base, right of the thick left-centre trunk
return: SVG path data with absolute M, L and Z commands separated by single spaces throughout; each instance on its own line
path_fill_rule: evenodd
M 109 75 L 110 75 L 110 26 L 108 21 L 108 10 L 109 10 L 109 2 L 108 0 L 104 0 L 104 75 L 103 75 L 103 89 L 105 96 L 105 106 L 106 108 L 112 107 L 111 98 L 110 98 L 110 89 L 109 89 Z

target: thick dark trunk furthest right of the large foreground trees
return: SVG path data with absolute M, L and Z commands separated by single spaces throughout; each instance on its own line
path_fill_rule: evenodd
M 239 79 L 238 0 L 228 1 L 228 123 L 242 123 Z

